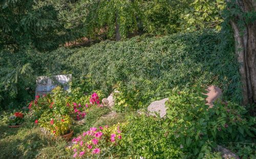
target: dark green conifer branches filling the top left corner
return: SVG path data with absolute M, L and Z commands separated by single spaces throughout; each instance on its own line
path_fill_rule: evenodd
M 52 50 L 72 38 L 51 4 L 4 0 L 0 3 L 0 14 L 1 48 L 20 49 L 32 44 L 40 50 Z

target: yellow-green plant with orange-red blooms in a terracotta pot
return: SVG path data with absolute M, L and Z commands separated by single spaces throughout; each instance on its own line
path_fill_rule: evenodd
M 58 113 L 43 113 L 37 121 L 39 126 L 46 128 L 55 136 L 62 136 L 69 140 L 73 135 L 72 118 L 68 115 L 60 115 Z

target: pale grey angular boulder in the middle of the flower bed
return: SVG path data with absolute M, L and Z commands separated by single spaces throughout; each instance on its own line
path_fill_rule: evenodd
M 160 101 L 154 101 L 150 104 L 150 106 L 147 107 L 147 111 L 150 112 L 150 115 L 156 116 L 155 112 L 160 113 L 160 117 L 163 118 L 166 115 L 166 109 L 165 102 L 168 100 L 168 98 L 164 98 Z

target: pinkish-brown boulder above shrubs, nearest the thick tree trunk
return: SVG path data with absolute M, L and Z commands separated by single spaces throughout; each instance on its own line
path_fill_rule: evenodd
M 210 85 L 208 86 L 207 90 L 207 94 L 205 94 L 206 96 L 208 96 L 206 98 L 206 105 L 209 105 L 209 108 L 212 108 L 214 106 L 214 101 L 216 101 L 218 98 L 220 98 L 222 91 L 221 88 L 214 86 L 214 85 Z

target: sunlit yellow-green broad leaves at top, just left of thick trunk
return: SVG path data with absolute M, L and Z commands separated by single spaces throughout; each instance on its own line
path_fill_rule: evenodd
M 220 24 L 223 22 L 221 12 L 224 8 L 224 0 L 195 0 L 180 15 L 182 30 L 195 31 L 204 28 L 221 30 Z

